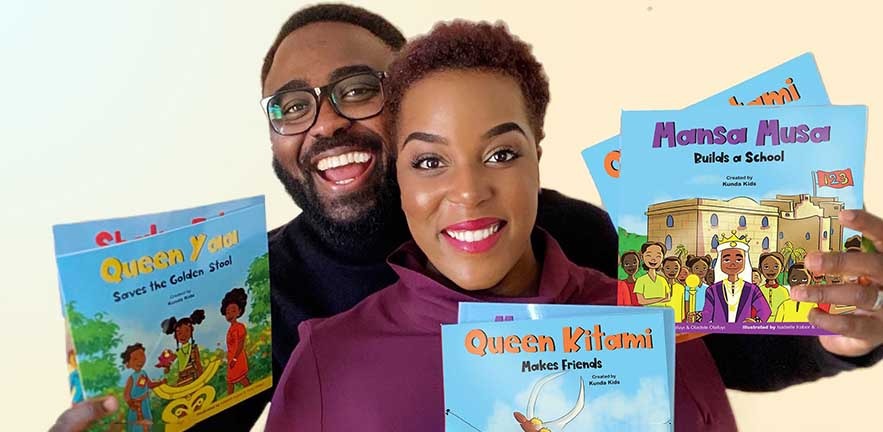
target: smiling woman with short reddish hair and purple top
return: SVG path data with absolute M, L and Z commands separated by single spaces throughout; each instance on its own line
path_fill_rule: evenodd
M 534 227 L 549 93 L 529 47 L 505 27 L 457 22 L 390 70 L 385 115 L 414 241 L 389 258 L 398 282 L 301 325 L 268 430 L 441 431 L 440 324 L 457 322 L 458 302 L 615 302 L 615 280 L 573 265 Z M 701 342 L 682 345 L 679 358 L 703 356 L 681 363 L 711 377 L 701 387 L 715 395 L 681 392 L 676 418 L 700 424 L 695 401 L 725 401 L 723 384 Z M 734 427 L 729 406 L 718 411 Z

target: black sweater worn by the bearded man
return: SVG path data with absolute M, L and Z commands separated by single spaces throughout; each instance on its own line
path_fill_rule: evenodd
M 397 280 L 386 257 L 410 235 L 404 223 L 392 225 L 384 228 L 384 234 L 365 239 L 357 250 L 333 246 L 303 216 L 269 233 L 274 383 L 297 345 L 302 321 L 346 311 Z M 616 277 L 618 240 L 605 211 L 543 189 L 537 225 L 577 265 Z M 816 337 L 709 335 L 702 340 L 726 386 L 747 391 L 778 390 L 883 358 L 883 347 L 864 357 L 837 357 L 825 351 Z M 273 389 L 266 390 L 191 430 L 251 430 L 272 393 Z

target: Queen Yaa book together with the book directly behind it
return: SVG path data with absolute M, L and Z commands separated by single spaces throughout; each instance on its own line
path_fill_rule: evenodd
M 91 430 L 178 431 L 272 386 L 264 198 L 56 225 L 74 401 Z

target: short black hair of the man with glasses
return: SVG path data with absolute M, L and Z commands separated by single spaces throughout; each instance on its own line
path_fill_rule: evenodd
M 273 66 L 273 58 L 276 57 L 276 50 L 279 49 L 279 44 L 291 32 L 307 24 L 317 22 L 340 22 L 361 27 L 377 36 L 393 51 L 398 51 L 405 45 L 405 36 L 402 35 L 399 29 L 387 21 L 386 18 L 366 9 L 345 4 L 318 4 L 305 7 L 291 15 L 288 21 L 285 21 L 285 24 L 282 24 L 282 28 L 279 29 L 276 40 L 273 41 L 273 45 L 270 46 L 267 55 L 264 57 L 264 65 L 261 68 L 261 86 L 267 80 L 267 75 L 270 73 L 270 67 Z

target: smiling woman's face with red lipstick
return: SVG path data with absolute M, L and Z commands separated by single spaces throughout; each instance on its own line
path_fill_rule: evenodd
M 533 259 L 540 150 L 524 107 L 518 83 L 492 72 L 432 73 L 402 98 L 396 170 L 408 228 L 466 290 Z

